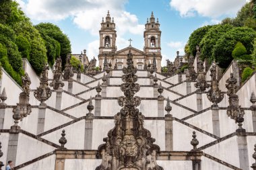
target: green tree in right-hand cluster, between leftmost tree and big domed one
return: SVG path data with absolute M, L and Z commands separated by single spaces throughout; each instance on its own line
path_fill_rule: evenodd
M 203 39 L 200 42 L 201 47 L 201 59 L 204 60 L 205 58 L 209 59 L 210 61 L 213 61 L 214 58 L 212 58 L 212 50 L 218 41 L 218 39 L 224 35 L 226 32 L 232 29 L 232 26 L 226 24 L 226 25 L 216 25 L 212 26 L 210 30 L 203 36 Z

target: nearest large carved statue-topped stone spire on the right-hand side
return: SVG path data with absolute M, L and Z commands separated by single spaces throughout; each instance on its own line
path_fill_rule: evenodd
M 229 96 L 229 105 L 226 111 L 227 115 L 234 120 L 237 120 L 239 115 L 243 118 L 245 111 L 241 108 L 241 105 L 239 105 L 239 98 L 238 95 L 236 95 L 236 79 L 233 77 L 233 73 L 230 73 L 230 78 L 226 80 L 226 88 L 228 89 L 227 95 Z

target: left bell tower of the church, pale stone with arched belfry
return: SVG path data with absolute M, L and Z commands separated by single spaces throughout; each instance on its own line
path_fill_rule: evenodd
M 110 56 L 113 56 L 116 48 L 116 39 L 117 39 L 117 31 L 115 30 L 115 22 L 114 17 L 111 19 L 109 11 L 106 14 L 106 18 L 104 21 L 104 17 L 102 17 L 100 28 L 100 48 L 98 54 L 99 65 L 102 65 L 104 60 L 104 55 L 107 54 L 107 59 L 110 59 Z

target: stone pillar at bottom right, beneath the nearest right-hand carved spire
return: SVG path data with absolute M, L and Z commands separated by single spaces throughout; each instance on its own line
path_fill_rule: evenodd
M 238 153 L 241 169 L 249 169 L 247 136 L 245 132 L 237 132 Z

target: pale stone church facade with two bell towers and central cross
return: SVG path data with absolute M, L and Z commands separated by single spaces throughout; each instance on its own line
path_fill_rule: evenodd
M 158 18 L 155 19 L 152 12 L 150 19 L 147 19 L 145 30 L 143 32 L 144 48 L 143 51 L 131 46 L 117 50 L 117 30 L 114 18 L 111 19 L 108 11 L 106 18 L 102 17 L 100 34 L 100 47 L 98 54 L 99 67 L 104 67 L 104 59 L 111 62 L 112 67 L 123 69 L 127 66 L 127 54 L 129 50 L 133 54 L 133 63 L 138 70 L 143 70 L 145 65 L 153 65 L 154 57 L 156 57 L 157 72 L 161 71 L 161 30 Z M 131 41 L 131 39 L 130 39 Z M 112 68 L 112 69 L 113 69 Z

